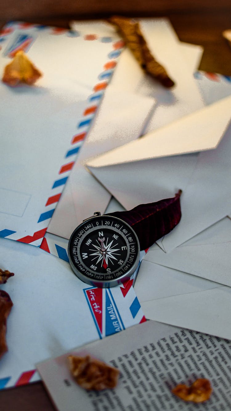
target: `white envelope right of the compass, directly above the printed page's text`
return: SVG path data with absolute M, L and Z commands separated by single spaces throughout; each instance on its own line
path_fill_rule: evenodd
M 142 261 L 135 292 L 147 319 L 231 339 L 231 288 Z

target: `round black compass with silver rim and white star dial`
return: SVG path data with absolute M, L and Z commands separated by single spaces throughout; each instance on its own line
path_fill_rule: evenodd
M 133 229 L 117 217 L 91 217 L 72 233 L 71 268 L 84 282 L 111 287 L 126 281 L 139 263 L 140 245 Z

